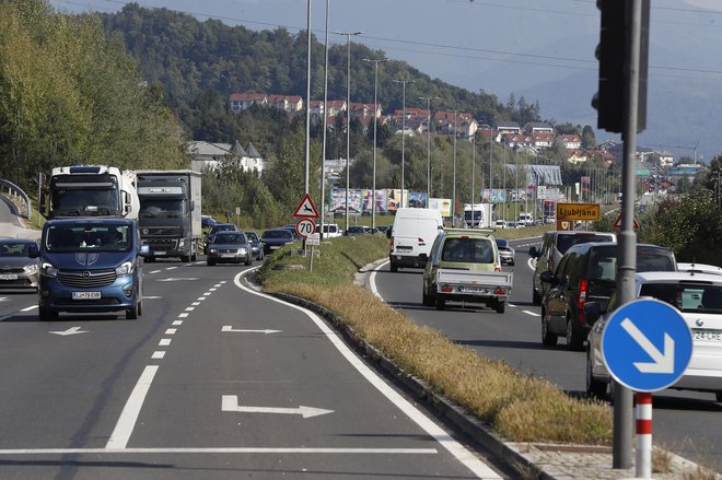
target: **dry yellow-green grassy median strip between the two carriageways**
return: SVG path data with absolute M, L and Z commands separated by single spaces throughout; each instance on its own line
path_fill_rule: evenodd
M 259 271 L 265 290 L 325 306 L 405 372 L 490 423 L 502 437 L 513 442 L 612 444 L 612 413 L 605 403 L 571 398 L 543 378 L 453 343 L 353 285 L 359 268 L 387 255 L 384 236 L 324 243 L 312 272 L 308 258 L 294 255 L 295 248 L 298 245 L 287 246 L 268 258 Z M 279 268 L 279 264 L 305 268 Z

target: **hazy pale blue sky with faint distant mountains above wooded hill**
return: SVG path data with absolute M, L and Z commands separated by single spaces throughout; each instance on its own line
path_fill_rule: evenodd
M 113 12 L 127 2 L 53 0 L 50 3 L 69 12 Z M 201 21 L 214 17 L 253 30 L 282 26 L 292 33 L 305 30 L 308 7 L 308 1 L 303 0 L 137 0 L 136 3 L 190 13 Z M 497 95 L 502 103 L 506 103 L 511 93 L 516 98 L 523 95 L 527 103 L 539 102 L 545 118 L 596 127 L 596 112 L 590 105 L 597 90 L 596 0 L 311 0 L 311 28 L 322 42 L 327 3 L 329 32 L 361 31 L 353 42 L 384 50 L 387 58 L 405 60 L 431 78 L 473 92 L 482 90 Z M 343 44 L 346 37 L 331 33 L 329 42 Z M 642 133 L 640 142 L 645 136 L 659 141 L 654 137 L 657 133 L 668 143 L 662 147 L 672 151 L 675 147 L 686 148 L 690 156 L 696 143 L 699 152 L 694 153 L 700 156 L 711 157 L 722 151 L 722 140 L 718 144 L 708 138 L 710 133 L 690 129 L 690 133 L 679 131 L 676 138 L 671 138 L 669 133 L 662 133 L 671 126 L 657 126 L 669 112 L 679 113 L 686 124 L 694 124 L 700 114 L 692 113 L 691 106 L 704 108 L 702 91 L 722 98 L 718 86 L 722 85 L 720 45 L 722 0 L 652 0 L 648 121 L 651 131 Z M 692 90 L 686 94 L 694 98 L 686 99 L 683 94 L 669 98 L 677 95 L 679 85 Z M 685 106 L 690 109 L 688 116 L 679 112 Z M 709 104 L 708 108 L 711 108 Z M 597 137 L 605 134 L 599 132 Z

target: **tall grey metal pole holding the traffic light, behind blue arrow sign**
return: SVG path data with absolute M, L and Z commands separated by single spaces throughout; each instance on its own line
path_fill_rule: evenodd
M 628 20 L 625 42 L 625 102 L 622 162 L 621 231 L 619 233 L 619 262 L 617 265 L 617 293 L 620 304 L 634 300 L 634 273 L 637 272 L 637 235 L 634 233 L 634 156 L 637 152 L 639 84 L 642 44 L 642 3 L 644 0 L 627 0 Z M 644 121 L 642 120 L 642 124 Z M 613 381 L 616 382 L 616 381 Z M 614 388 L 614 444 L 613 467 L 631 467 L 632 393 L 615 383 Z

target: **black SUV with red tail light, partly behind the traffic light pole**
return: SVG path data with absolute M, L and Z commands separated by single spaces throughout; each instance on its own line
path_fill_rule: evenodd
M 606 305 L 616 289 L 617 243 L 579 244 L 569 248 L 554 273 L 540 278 L 548 285 L 542 301 L 542 343 L 554 346 L 559 336 L 570 350 L 582 350 L 596 318 L 586 318 L 584 304 Z M 637 245 L 637 271 L 675 271 L 669 248 Z

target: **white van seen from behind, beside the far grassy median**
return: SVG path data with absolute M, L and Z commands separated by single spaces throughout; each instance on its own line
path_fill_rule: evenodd
M 398 209 L 389 238 L 391 271 L 399 267 L 423 268 L 431 253 L 431 244 L 443 229 L 441 211 L 434 209 Z M 426 254 L 423 260 L 419 259 Z

